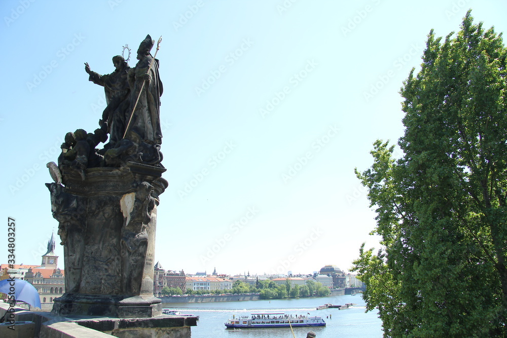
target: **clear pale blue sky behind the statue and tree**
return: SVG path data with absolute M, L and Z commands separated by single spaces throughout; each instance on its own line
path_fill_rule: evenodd
M 3 1 L 0 202 L 16 264 L 40 264 L 57 231 L 46 163 L 105 107 L 84 62 L 110 73 L 151 34 L 163 39 L 169 182 L 155 260 L 187 273 L 348 270 L 361 243 L 378 247 L 354 168 L 372 164 L 376 139 L 403 135 L 399 90 L 428 32 L 459 30 L 469 8 L 507 30 L 504 1 Z

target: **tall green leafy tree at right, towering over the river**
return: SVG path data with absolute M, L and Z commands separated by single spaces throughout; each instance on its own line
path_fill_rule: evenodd
M 385 336 L 507 336 L 507 51 L 474 24 L 428 35 L 401 94 L 404 156 L 377 141 L 357 176 L 383 248 L 359 251 Z

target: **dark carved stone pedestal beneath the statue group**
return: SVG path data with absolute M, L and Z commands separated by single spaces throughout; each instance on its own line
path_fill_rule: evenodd
M 47 184 L 64 245 L 65 293 L 52 313 L 147 318 L 161 314 L 153 296 L 155 231 L 166 169 L 128 163 L 62 172 Z

